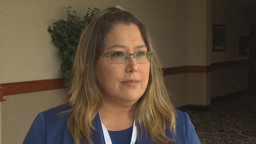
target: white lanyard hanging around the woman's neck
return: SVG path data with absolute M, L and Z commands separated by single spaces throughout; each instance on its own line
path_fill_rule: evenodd
M 99 115 L 99 118 L 100 118 L 100 115 Z M 110 139 L 108 130 L 107 130 L 107 128 L 104 126 L 104 124 L 102 123 L 101 118 L 100 118 L 100 122 L 101 122 L 101 126 L 102 126 L 103 136 L 104 136 L 104 139 L 105 139 L 105 144 L 112 144 L 112 141 L 111 141 L 111 139 Z M 135 144 L 136 138 L 137 138 L 137 126 L 136 126 L 136 122 L 135 122 L 135 120 L 134 120 L 134 123 L 133 123 L 133 134 L 132 134 L 131 144 Z

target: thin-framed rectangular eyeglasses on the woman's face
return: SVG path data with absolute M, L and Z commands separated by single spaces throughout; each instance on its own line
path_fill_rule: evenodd
M 101 56 L 106 56 L 109 58 L 109 61 L 113 64 L 122 64 L 124 63 L 130 55 L 133 55 L 134 60 L 137 63 L 144 64 L 147 63 L 152 57 L 153 53 L 150 51 L 139 51 L 136 53 L 126 53 L 122 51 L 112 51 L 108 53 L 101 53 Z

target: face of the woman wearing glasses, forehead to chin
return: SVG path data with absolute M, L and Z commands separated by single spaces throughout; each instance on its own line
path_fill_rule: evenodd
M 103 50 L 105 53 L 112 51 L 147 51 L 138 26 L 132 23 L 116 24 L 106 35 Z M 119 106 L 134 104 L 146 90 L 149 68 L 149 62 L 139 64 L 132 55 L 122 64 L 113 64 L 108 57 L 99 56 L 96 61 L 96 72 L 103 102 Z

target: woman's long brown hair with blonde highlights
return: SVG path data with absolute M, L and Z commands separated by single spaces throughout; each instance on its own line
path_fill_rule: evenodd
M 91 134 L 95 130 L 93 120 L 102 103 L 102 95 L 96 80 L 96 59 L 105 47 L 107 33 L 120 22 L 136 24 L 148 51 L 153 52 L 148 86 L 145 93 L 133 105 L 136 110 L 135 121 L 140 129 L 138 138 L 141 138 L 142 126 L 144 126 L 151 140 L 161 144 L 174 141 L 165 132 L 169 129 L 176 134 L 175 111 L 165 88 L 161 64 L 152 39 L 140 20 L 120 6 L 101 10 L 81 34 L 72 69 L 72 83 L 64 101 L 72 107 L 71 110 L 63 112 L 71 113 L 67 122 L 68 129 L 75 144 L 82 142 L 83 135 L 87 139 L 85 143 L 93 144 L 91 139 Z

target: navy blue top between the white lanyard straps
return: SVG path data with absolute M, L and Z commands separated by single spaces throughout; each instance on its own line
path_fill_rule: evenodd
M 108 131 L 108 133 L 112 144 L 130 144 L 132 139 L 133 126 L 122 131 Z

